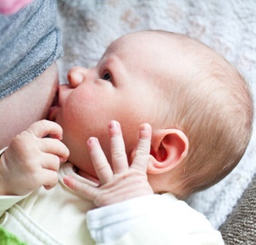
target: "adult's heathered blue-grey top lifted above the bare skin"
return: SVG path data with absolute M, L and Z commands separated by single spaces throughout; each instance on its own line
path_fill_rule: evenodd
M 61 55 L 56 1 L 35 0 L 0 15 L 0 99 L 33 81 Z

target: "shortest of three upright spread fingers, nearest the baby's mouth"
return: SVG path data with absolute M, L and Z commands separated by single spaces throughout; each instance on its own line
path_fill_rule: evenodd
M 106 184 L 113 178 L 113 171 L 108 164 L 108 159 L 102 151 L 99 140 L 94 137 L 90 137 L 87 141 L 87 145 L 89 148 L 90 158 L 95 167 L 96 174 L 101 184 Z

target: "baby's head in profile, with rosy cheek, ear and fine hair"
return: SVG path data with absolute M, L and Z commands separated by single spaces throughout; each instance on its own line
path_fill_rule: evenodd
M 95 68 L 72 68 L 50 119 L 63 128 L 69 160 L 95 178 L 86 140 L 109 162 L 108 122 L 121 123 L 128 158 L 139 126 L 153 129 L 148 181 L 155 192 L 187 197 L 239 162 L 251 136 L 246 82 L 220 55 L 184 35 L 142 31 L 112 42 Z

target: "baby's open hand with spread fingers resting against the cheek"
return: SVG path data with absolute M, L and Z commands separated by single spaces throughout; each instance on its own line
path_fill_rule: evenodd
M 71 176 L 66 176 L 64 183 L 70 189 L 92 200 L 97 207 L 154 194 L 148 184 L 147 177 L 151 127 L 148 124 L 141 126 L 135 158 L 130 166 L 128 166 L 120 124 L 116 121 L 111 121 L 108 131 L 110 135 L 112 169 L 102 152 L 98 139 L 90 138 L 88 140 L 90 156 L 101 184 L 93 187 L 89 184 L 82 184 Z

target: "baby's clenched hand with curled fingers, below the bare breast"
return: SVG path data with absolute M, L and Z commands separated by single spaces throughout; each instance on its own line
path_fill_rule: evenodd
M 44 138 L 49 135 L 54 138 Z M 49 120 L 32 124 L 11 140 L 0 160 L 0 195 L 26 195 L 57 184 L 60 163 L 69 157 L 62 127 Z

